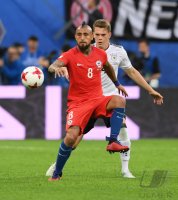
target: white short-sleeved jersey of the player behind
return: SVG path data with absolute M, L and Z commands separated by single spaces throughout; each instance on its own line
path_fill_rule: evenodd
M 106 50 L 106 53 L 109 63 L 113 66 L 116 77 L 118 75 L 119 67 L 121 67 L 123 70 L 132 67 L 127 52 L 122 46 L 110 44 L 109 48 Z M 101 73 L 101 79 L 104 96 L 118 95 L 118 89 L 104 71 Z

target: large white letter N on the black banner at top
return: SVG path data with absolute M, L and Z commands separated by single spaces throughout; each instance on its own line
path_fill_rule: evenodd
M 140 37 L 144 29 L 148 0 L 139 1 L 138 9 L 135 8 L 134 0 L 122 0 L 118 6 L 118 16 L 115 22 L 114 35 L 124 36 L 126 22 L 129 20 L 135 37 Z

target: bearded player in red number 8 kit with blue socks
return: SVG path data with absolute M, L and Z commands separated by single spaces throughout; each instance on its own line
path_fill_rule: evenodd
M 56 161 L 56 169 L 49 180 L 59 180 L 62 169 L 68 160 L 72 147 L 79 135 L 83 134 L 91 117 L 111 117 L 111 134 L 107 151 L 125 152 L 129 148 L 117 141 L 125 112 L 125 100 L 121 96 L 103 96 L 101 70 L 104 68 L 119 92 L 127 96 L 124 87 L 117 81 L 112 66 L 107 61 L 105 51 L 91 45 L 92 29 L 86 24 L 76 29 L 77 46 L 63 53 L 49 71 L 56 75 L 66 76 L 69 73 L 69 92 L 66 136 L 61 143 Z

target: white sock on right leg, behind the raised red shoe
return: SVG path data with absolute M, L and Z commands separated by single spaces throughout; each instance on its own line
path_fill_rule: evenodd
M 131 147 L 131 142 L 127 133 L 127 128 L 123 127 L 121 128 L 121 131 L 118 136 L 118 140 L 122 145 L 128 146 L 129 151 L 125 153 L 120 153 L 120 159 L 121 159 L 121 165 L 122 165 L 122 172 L 127 172 L 129 171 L 129 160 L 130 160 L 130 147 Z

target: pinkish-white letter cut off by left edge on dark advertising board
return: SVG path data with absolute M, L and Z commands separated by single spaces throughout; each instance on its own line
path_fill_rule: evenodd
M 0 86 L 0 99 L 24 99 L 25 87 Z M 25 139 L 25 126 L 0 106 L 0 140 Z

